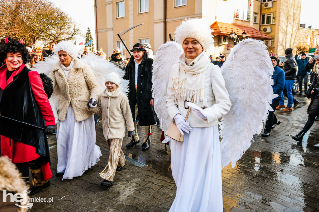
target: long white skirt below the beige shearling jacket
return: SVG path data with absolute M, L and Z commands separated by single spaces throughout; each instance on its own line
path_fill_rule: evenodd
M 81 176 L 100 160 L 102 154 L 95 138 L 94 117 L 76 122 L 70 105 L 65 120 L 56 129 L 57 172 L 64 173 L 63 179 Z

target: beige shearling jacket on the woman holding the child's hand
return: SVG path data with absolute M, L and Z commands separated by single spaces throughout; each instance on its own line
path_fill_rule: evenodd
M 99 101 L 100 87 L 91 68 L 80 59 L 73 59 L 75 60 L 75 64 L 74 68 L 70 69 L 68 80 L 60 61 L 52 67 L 49 77 L 53 81 L 53 88 L 58 85 L 61 92 L 58 108 L 59 120 L 65 120 L 66 113 L 71 104 L 75 120 L 80 122 L 93 115 L 91 111 L 87 110 L 86 104 L 91 98 Z

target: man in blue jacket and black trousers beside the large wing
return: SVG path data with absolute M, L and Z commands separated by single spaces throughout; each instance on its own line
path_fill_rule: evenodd
M 279 100 L 281 98 L 282 91 L 285 87 L 285 72 L 277 66 L 277 55 L 270 53 L 269 56 L 271 59 L 271 63 L 274 67 L 274 73 L 272 75 L 274 84 L 272 85 L 272 90 L 274 94 L 278 94 L 278 97 L 274 98 L 272 100 L 272 103 L 270 104 L 273 111 L 269 110 L 269 115 L 266 121 L 265 129 L 263 134 L 261 134 L 262 137 L 270 136 L 271 129 L 274 129 L 278 124 L 280 124 L 280 121 L 277 119 L 276 115 L 274 114 L 274 111 L 276 110 L 276 107 L 279 105 Z

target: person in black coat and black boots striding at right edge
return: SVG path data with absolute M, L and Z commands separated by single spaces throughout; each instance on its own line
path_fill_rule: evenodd
M 295 136 L 292 138 L 296 141 L 302 141 L 303 136 L 306 134 L 306 132 L 310 129 L 310 127 L 315 122 L 315 117 L 319 116 L 319 79 L 318 79 L 318 73 L 319 73 L 319 55 L 315 56 L 316 60 L 316 67 L 315 67 L 315 76 L 311 83 L 311 85 L 308 88 L 307 91 L 307 98 L 310 99 L 310 104 L 308 106 L 308 121 L 305 124 L 304 128 Z M 319 144 L 317 144 L 315 147 L 319 147 Z

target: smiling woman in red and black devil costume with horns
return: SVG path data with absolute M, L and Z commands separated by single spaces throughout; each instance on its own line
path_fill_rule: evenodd
M 5 62 L 0 67 L 1 156 L 8 156 L 15 163 L 27 184 L 30 167 L 32 195 L 50 185 L 52 173 L 45 134 L 54 132 L 55 119 L 48 102 L 50 94 L 46 94 L 40 75 L 25 65 L 29 59 L 22 39 L 1 39 L 0 60 Z

